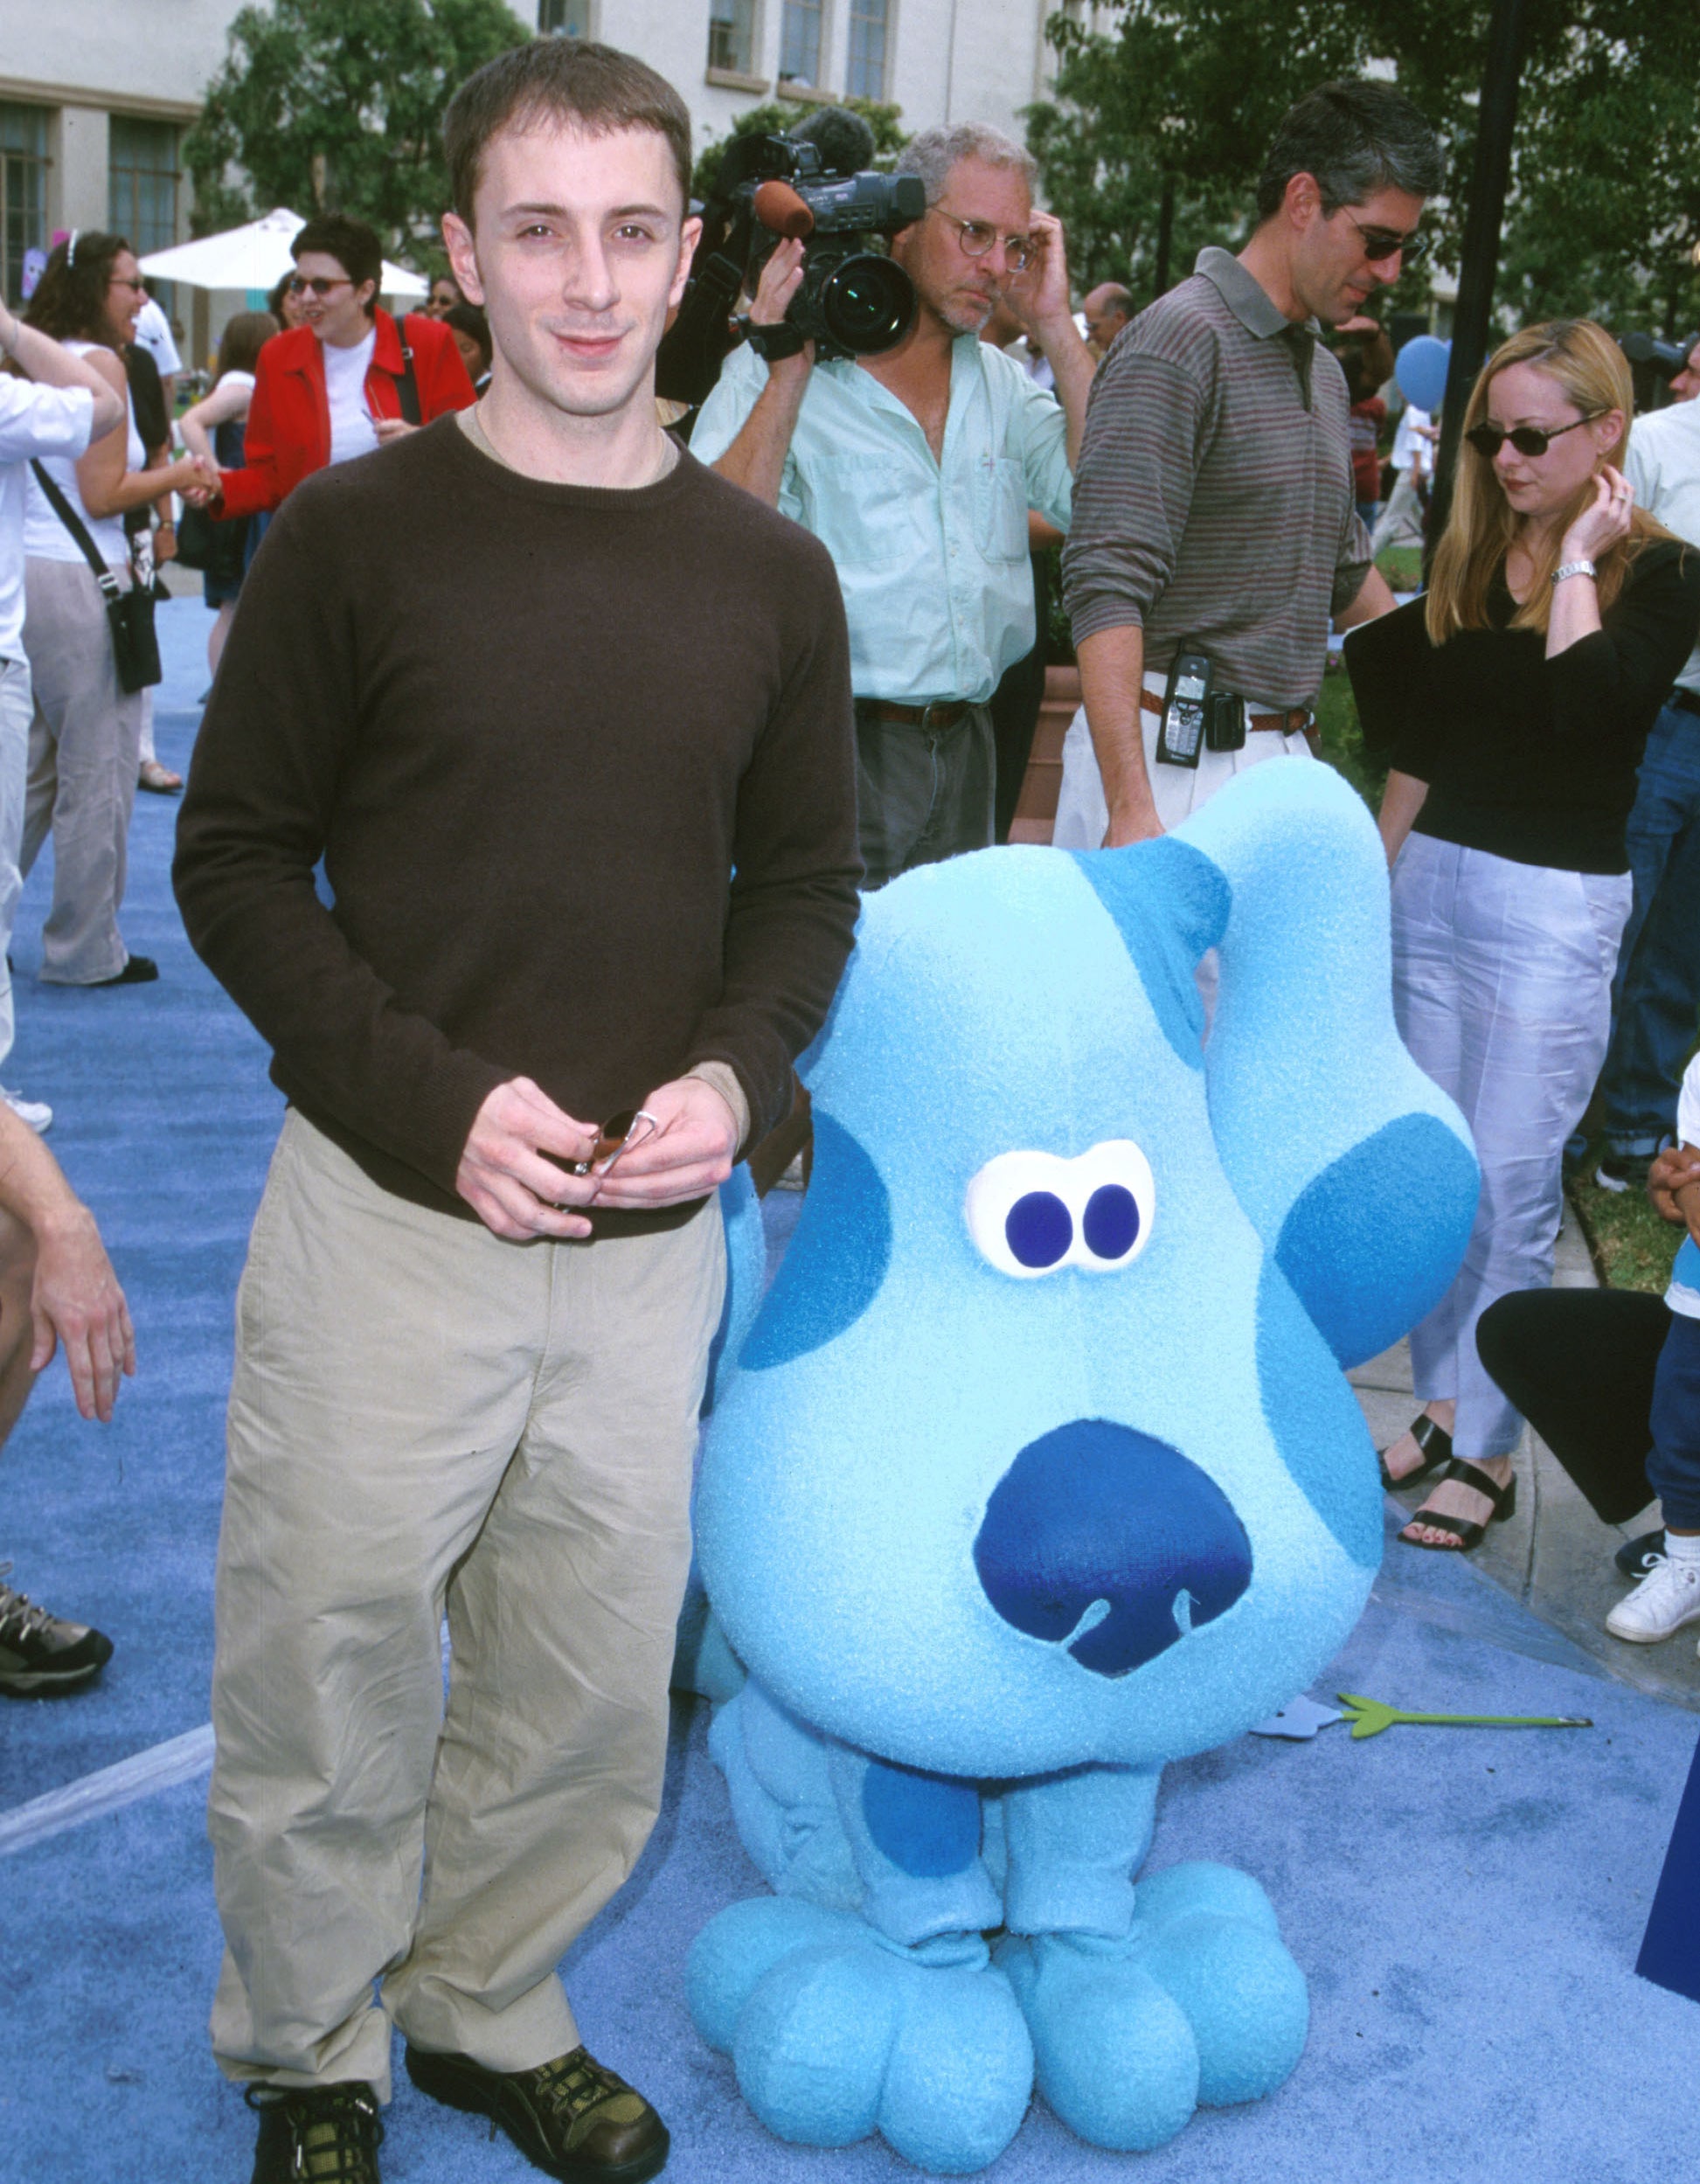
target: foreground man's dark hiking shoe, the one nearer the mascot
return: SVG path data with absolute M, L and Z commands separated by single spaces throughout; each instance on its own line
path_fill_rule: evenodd
M 666 2167 L 666 2125 L 623 2077 L 572 2049 L 538 2070 L 409 2046 L 406 2075 L 448 2108 L 489 2116 L 529 2162 L 568 2184 L 645 2184 Z

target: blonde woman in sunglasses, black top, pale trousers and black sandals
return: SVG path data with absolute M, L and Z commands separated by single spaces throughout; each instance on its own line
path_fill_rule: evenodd
M 1394 1009 L 1464 1109 L 1481 1203 L 1464 1267 L 1412 1334 L 1422 1415 L 1383 1455 L 1433 1470 L 1403 1535 L 1471 1548 L 1516 1498 L 1523 1420 L 1475 1352 L 1495 1297 L 1551 1282 L 1560 1162 L 1606 1055 L 1630 909 L 1641 745 L 1700 627 L 1700 553 L 1637 511 L 1617 343 L 1532 325 L 1481 371 L 1425 598 L 1346 646 L 1390 749 Z

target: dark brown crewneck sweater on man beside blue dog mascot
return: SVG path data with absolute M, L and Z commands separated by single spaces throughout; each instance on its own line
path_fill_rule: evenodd
M 544 485 L 446 417 L 319 472 L 243 587 L 173 878 L 273 1081 L 404 1197 L 472 1219 L 516 1075 L 601 1120 L 723 1061 L 760 1136 L 857 917 L 833 563 L 688 454 Z

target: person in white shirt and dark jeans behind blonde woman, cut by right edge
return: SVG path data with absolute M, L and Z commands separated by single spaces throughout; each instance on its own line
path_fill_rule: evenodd
M 1637 417 L 1624 474 L 1637 507 L 1700 546 L 1700 341 L 1669 408 Z M 1617 957 L 1613 1040 L 1599 1077 L 1604 1190 L 1643 1190 L 1676 1129 L 1700 1007 L 1700 646 L 1648 734 L 1626 830 L 1634 900 Z

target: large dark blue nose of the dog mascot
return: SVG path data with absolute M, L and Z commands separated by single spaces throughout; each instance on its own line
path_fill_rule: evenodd
M 1029 1638 L 1128 1675 L 1232 1607 L 1252 1542 L 1221 1487 L 1149 1433 L 1077 1417 L 1029 1441 L 975 1540 L 985 1599 Z

